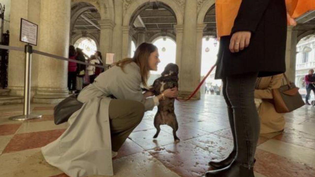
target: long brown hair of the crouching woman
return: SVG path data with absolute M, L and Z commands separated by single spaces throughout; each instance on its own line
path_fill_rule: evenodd
M 157 47 L 152 43 L 142 43 L 135 51 L 133 58 L 126 58 L 115 63 L 123 69 L 126 64 L 135 62 L 140 67 L 141 81 L 144 87 L 147 87 L 147 80 L 150 75 L 149 69 L 149 56 L 152 52 L 156 51 Z

